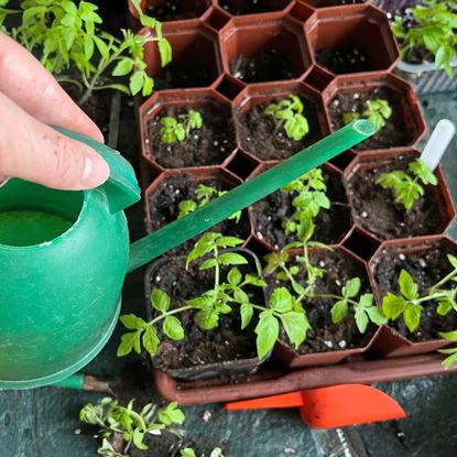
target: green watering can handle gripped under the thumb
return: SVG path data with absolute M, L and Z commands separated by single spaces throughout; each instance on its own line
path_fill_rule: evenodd
M 110 170 L 109 178 L 100 187 L 107 194 L 111 214 L 133 205 L 141 198 L 141 191 L 132 165 L 118 151 L 80 133 L 75 133 L 61 127 L 54 127 L 54 129 L 95 149 L 108 163 Z

